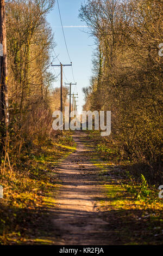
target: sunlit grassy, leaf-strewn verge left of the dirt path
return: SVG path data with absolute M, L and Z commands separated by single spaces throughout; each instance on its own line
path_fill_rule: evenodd
M 40 234 L 40 223 L 48 219 L 43 208 L 59 187 L 55 166 L 75 149 L 69 132 L 23 151 L 12 173 L 6 169 L 0 176 L 3 199 L 0 199 L 0 244 L 26 243 Z M 47 223 L 45 223 L 45 226 Z M 47 225 L 48 226 L 48 225 Z

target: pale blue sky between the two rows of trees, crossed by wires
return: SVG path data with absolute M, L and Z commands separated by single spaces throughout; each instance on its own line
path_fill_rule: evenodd
M 93 38 L 89 34 L 84 33 L 87 31 L 86 27 L 76 27 L 76 26 L 86 26 L 86 24 L 78 18 L 79 8 L 83 0 L 58 0 L 60 6 L 60 13 L 62 17 L 62 23 L 64 26 L 64 32 L 67 42 L 68 51 L 73 63 L 74 79 L 77 82 L 77 86 L 72 86 L 72 92 L 78 92 L 79 96 L 79 112 L 82 111 L 82 105 L 84 104 L 84 96 L 82 93 L 82 88 L 89 86 L 89 78 L 91 76 L 91 58 L 92 52 L 95 48 L 95 43 Z M 70 64 L 70 59 L 68 58 L 66 46 L 64 42 L 64 37 L 62 34 L 59 11 L 57 0 L 55 6 L 51 13 L 48 14 L 48 22 L 54 32 L 55 42 L 57 46 L 55 47 L 55 52 L 62 64 Z M 83 32 L 84 31 L 84 32 Z M 55 55 L 54 55 L 55 56 Z M 59 64 L 56 59 L 53 64 Z M 60 73 L 60 68 L 53 69 L 54 74 Z M 64 67 L 64 73 L 68 82 L 74 82 L 72 76 L 71 67 Z M 63 76 L 63 84 L 67 80 Z M 60 76 L 57 81 L 54 82 L 53 87 L 60 86 Z

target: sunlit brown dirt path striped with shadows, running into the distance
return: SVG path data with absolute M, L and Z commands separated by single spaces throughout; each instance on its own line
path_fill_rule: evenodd
M 108 245 L 108 222 L 96 207 L 105 195 L 83 136 L 83 132 L 74 134 L 76 152 L 55 169 L 62 181 L 53 219 L 57 245 Z

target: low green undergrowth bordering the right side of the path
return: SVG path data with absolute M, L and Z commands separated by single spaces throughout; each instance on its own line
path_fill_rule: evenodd
M 141 169 L 135 175 L 135 172 L 132 171 L 133 163 L 130 160 L 120 160 L 121 156 L 118 156 L 116 147 L 108 145 L 107 140 L 99 135 L 99 131 L 87 131 L 87 138 L 92 140 L 92 143 L 96 141 L 95 150 L 98 152 L 101 160 L 105 163 L 118 165 L 118 175 L 122 177 L 122 181 L 120 180 L 121 186 L 131 193 L 135 200 L 141 200 L 147 206 L 151 204 L 153 209 L 155 209 L 155 206 L 156 208 L 162 208 L 163 199 L 158 196 L 158 184 L 150 183 L 146 178 L 148 175 L 142 174 L 140 172 Z

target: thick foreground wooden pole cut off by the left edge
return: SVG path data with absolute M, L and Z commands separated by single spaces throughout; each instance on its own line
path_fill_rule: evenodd
M 0 117 L 6 130 L 9 123 L 8 111 L 8 69 L 7 69 L 7 39 L 5 25 L 5 1 L 0 1 L 0 45 L 1 45 L 1 62 L 0 62 Z M 4 135 L 3 135 L 4 136 Z

